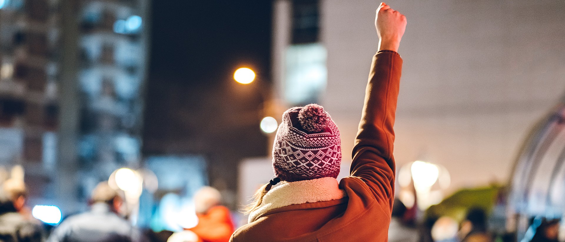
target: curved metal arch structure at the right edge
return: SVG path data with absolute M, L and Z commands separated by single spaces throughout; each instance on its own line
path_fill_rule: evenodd
M 512 171 L 507 201 L 508 228 L 516 232 L 518 241 L 531 218 L 565 214 L 565 102 L 528 135 Z

